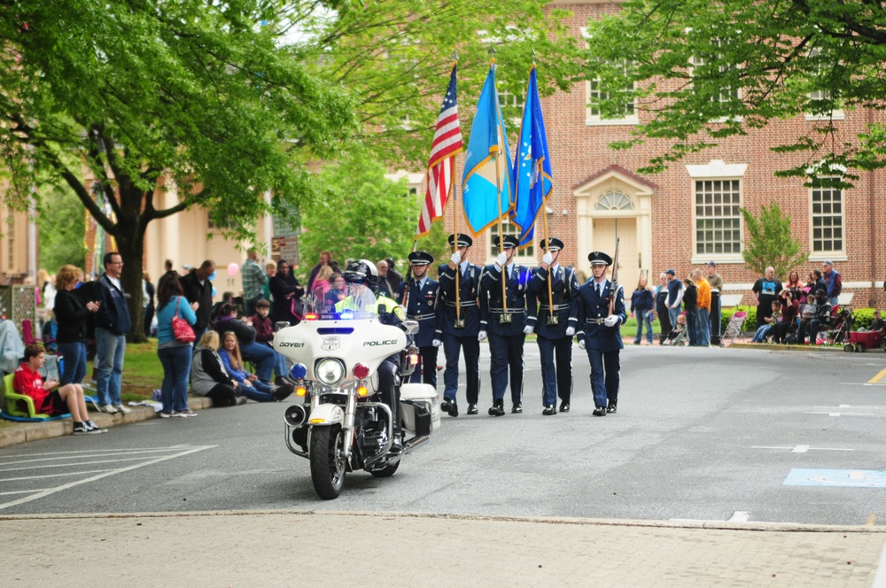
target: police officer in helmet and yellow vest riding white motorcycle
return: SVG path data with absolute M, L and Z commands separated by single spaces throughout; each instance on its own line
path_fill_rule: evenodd
M 352 261 L 342 273 L 349 285 L 348 296 L 338 301 L 336 312 L 343 310 L 367 310 L 378 314 L 378 321 L 385 325 L 399 326 L 406 320 L 406 311 L 395 300 L 378 294 L 378 270 L 369 259 Z M 362 288 L 360 288 L 362 286 Z M 371 298 L 370 298 L 371 297 Z M 409 336 L 407 336 L 407 339 Z M 393 450 L 402 448 L 400 429 L 400 355 L 392 355 L 378 365 L 378 392 L 382 402 L 391 409 L 393 419 Z

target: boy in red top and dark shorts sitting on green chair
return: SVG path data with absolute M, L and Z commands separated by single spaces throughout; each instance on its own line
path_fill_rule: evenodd
M 19 394 L 25 394 L 34 400 L 34 410 L 37 414 L 70 413 L 74 418 L 74 435 L 98 435 L 106 433 L 107 429 L 99 429 L 96 423 L 89 419 L 86 412 L 86 401 L 83 399 L 83 389 L 74 384 L 67 384 L 58 390 L 52 390 L 58 386 L 58 382 L 49 379 L 43 382 L 43 377 L 38 373 L 46 362 L 43 347 L 32 344 L 25 347 L 25 362 L 15 371 L 12 379 L 12 390 Z

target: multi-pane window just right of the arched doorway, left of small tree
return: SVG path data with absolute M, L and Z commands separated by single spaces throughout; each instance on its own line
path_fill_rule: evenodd
M 742 181 L 696 180 L 696 255 L 742 252 Z

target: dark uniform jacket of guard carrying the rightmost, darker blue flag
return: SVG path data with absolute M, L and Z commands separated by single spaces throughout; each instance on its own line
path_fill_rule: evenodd
M 579 279 L 569 267 L 557 267 L 551 281 L 551 294 L 556 311 L 557 324 L 548 325 L 548 270 L 536 267 L 526 292 L 528 313 L 526 323 L 535 328 L 539 337 L 561 339 L 566 337 L 566 328 L 578 330 L 579 324 Z

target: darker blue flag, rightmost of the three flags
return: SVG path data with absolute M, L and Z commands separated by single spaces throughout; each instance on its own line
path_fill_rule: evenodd
M 514 160 L 513 184 L 516 196 L 511 219 L 520 228 L 520 248 L 523 249 L 532 243 L 535 219 L 554 186 L 535 66 L 529 72 L 529 89 L 526 91 L 517 159 Z

